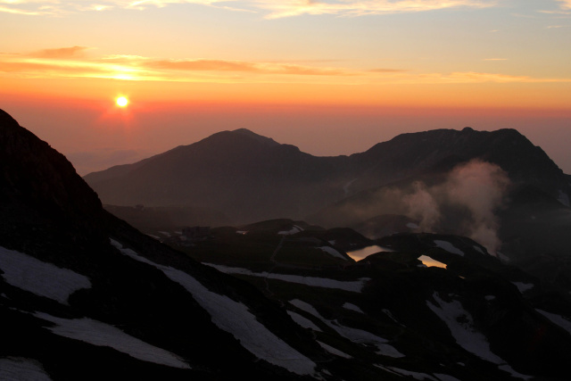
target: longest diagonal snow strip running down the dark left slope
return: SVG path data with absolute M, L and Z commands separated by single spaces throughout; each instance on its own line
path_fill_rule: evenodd
M 211 315 L 212 322 L 220 329 L 234 335 L 246 350 L 259 359 L 288 369 L 298 375 L 313 375 L 316 364 L 286 344 L 259 322 L 241 302 L 235 302 L 226 295 L 216 294 L 203 286 L 186 272 L 159 265 L 141 257 L 131 249 L 124 249 L 120 243 L 112 244 L 129 257 L 160 269 L 167 277 L 186 288 L 204 310 Z

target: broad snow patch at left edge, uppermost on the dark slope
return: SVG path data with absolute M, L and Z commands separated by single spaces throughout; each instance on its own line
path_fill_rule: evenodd
M 70 294 L 91 287 L 89 278 L 75 271 L 1 246 L 0 269 L 10 285 L 62 304 L 68 304 Z

